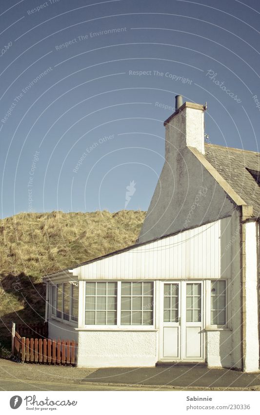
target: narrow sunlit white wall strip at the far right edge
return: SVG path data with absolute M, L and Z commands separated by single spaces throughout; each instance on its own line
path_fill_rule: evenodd
M 258 225 L 256 222 L 245 224 L 245 356 L 244 371 L 259 371 L 259 332 L 258 332 Z

